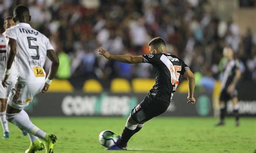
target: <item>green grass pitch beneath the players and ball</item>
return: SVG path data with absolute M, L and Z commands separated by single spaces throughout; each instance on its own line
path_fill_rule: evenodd
M 110 129 L 120 134 L 126 119 L 122 117 L 31 117 L 39 128 L 56 134 L 55 152 L 124 152 L 106 151 L 98 142 L 101 131 Z M 256 120 L 226 119 L 224 127 L 214 127 L 214 118 L 157 117 L 134 135 L 127 147 L 129 152 L 254 152 Z M 0 152 L 24 152 L 29 137 L 9 124 L 10 138 L 0 140 Z M 2 134 L 1 134 L 2 135 Z

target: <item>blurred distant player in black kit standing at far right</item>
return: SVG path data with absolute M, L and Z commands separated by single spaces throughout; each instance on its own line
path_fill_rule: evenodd
M 225 47 L 223 50 L 224 57 L 227 58 L 225 63 L 223 79 L 221 81 L 221 93 L 219 99 L 220 106 L 220 122 L 216 126 L 224 126 L 224 118 L 226 114 L 226 103 L 231 100 L 233 103 L 233 113 L 235 115 L 235 126 L 239 126 L 239 106 L 238 106 L 238 92 L 237 85 L 241 77 L 241 71 L 239 68 L 239 60 L 234 59 L 234 53 L 232 48 Z

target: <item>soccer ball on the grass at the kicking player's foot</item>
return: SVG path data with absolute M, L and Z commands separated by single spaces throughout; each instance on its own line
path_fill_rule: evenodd
M 106 148 L 116 144 L 119 136 L 114 134 L 111 130 L 104 130 L 99 134 L 99 143 Z

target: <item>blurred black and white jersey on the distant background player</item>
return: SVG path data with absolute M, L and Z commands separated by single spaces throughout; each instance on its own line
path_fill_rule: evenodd
M 224 65 L 223 79 L 221 81 L 221 90 L 227 90 L 228 86 L 232 83 L 235 72 L 240 67 L 240 62 L 237 59 L 231 59 Z

